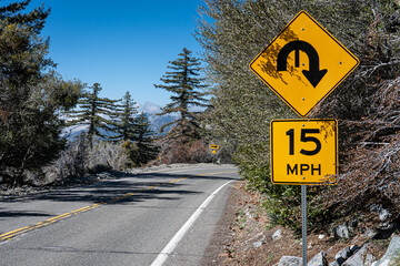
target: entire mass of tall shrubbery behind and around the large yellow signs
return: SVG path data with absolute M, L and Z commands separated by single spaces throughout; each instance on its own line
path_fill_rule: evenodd
M 277 224 L 300 226 L 300 187 L 272 185 L 269 125 L 297 117 L 250 70 L 249 63 L 300 11 L 308 11 L 360 59 L 360 65 L 312 112 L 337 119 L 340 175 L 336 186 L 309 188 L 309 222 L 400 206 L 400 6 L 387 0 L 206 0 L 197 39 L 211 82 L 208 123 L 233 147 L 249 186 L 264 194 Z

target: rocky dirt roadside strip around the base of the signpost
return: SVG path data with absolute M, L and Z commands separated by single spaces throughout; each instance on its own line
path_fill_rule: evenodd
M 251 192 L 246 186 L 246 181 L 240 181 L 234 185 L 224 214 L 206 250 L 202 265 L 301 266 L 301 260 L 292 262 L 292 264 L 280 263 L 283 256 L 301 257 L 301 235 L 288 227 L 273 225 L 271 217 L 262 208 L 262 194 Z M 383 215 L 386 211 L 371 207 L 371 211 L 357 219 L 357 224 L 352 222 L 350 225 L 338 221 L 327 229 L 309 226 L 308 262 L 322 252 L 326 264 L 316 263 L 311 264 L 312 266 L 328 264 L 338 266 L 351 255 L 366 249 L 361 262 L 359 258 L 356 262 L 357 256 L 353 256 L 352 263 L 344 265 L 371 266 L 373 262 L 378 265 L 378 260 L 387 253 L 389 243 L 400 239 L 400 223 L 399 221 L 390 222 L 389 216 Z M 344 228 L 344 226 L 351 231 L 348 235 L 342 233 L 338 235 L 337 228 Z M 398 255 L 397 257 L 394 255 L 396 258 L 392 258 L 389 265 L 398 266 L 400 265 L 400 246 L 396 246 L 393 250 Z

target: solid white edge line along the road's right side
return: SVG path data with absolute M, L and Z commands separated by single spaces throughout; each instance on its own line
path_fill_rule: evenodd
M 161 253 L 157 256 L 157 258 L 152 262 L 151 266 L 161 266 L 167 260 L 168 256 L 172 253 L 172 250 L 178 246 L 179 242 L 183 238 L 184 234 L 190 229 L 196 219 L 200 216 L 200 214 L 206 209 L 207 205 L 214 198 L 214 196 L 229 183 L 233 181 L 229 181 L 218 187 L 201 205 L 196 209 L 196 212 L 190 216 L 190 218 L 184 223 L 184 225 L 177 232 L 177 234 L 172 237 L 172 239 L 167 244 L 167 246 L 161 250 Z

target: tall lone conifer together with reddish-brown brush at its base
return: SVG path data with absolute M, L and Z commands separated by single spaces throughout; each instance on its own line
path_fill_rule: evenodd
M 191 51 L 183 48 L 177 60 L 170 61 L 161 81 L 154 85 L 172 93 L 171 102 L 161 109 L 158 115 L 178 113 L 178 119 L 161 126 L 161 132 L 172 125 L 161 137 L 162 163 L 206 163 L 211 162 L 211 154 L 203 141 L 206 131 L 200 125 L 201 111 L 208 108 L 204 98 L 204 79 L 200 78 L 200 60 L 191 55 Z

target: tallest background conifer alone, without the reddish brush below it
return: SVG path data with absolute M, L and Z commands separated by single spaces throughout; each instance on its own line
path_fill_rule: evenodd
M 200 139 L 200 126 L 197 115 L 200 112 L 190 111 L 193 106 L 208 106 L 204 93 L 200 90 L 207 88 L 203 84 L 204 79 L 199 78 L 199 59 L 191 57 L 191 51 L 183 48 L 179 58 L 169 62 L 167 72 L 160 80 L 164 83 L 154 85 L 156 88 L 167 90 L 172 93 L 171 103 L 161 109 L 157 115 L 179 113 L 179 119 L 174 122 L 161 126 L 161 132 L 169 125 L 174 125 L 167 134 L 167 139 L 187 143 Z

